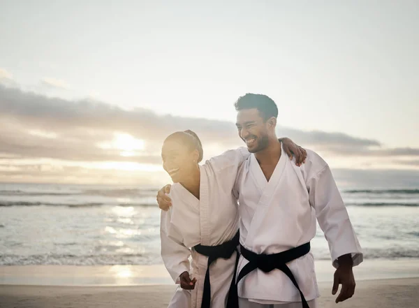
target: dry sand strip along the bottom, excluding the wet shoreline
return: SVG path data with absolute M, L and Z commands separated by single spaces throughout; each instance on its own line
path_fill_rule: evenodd
M 319 284 L 318 307 L 413 308 L 419 303 L 419 278 L 359 281 L 353 298 L 335 304 L 332 284 Z M 163 308 L 175 286 L 0 286 L 4 308 Z

